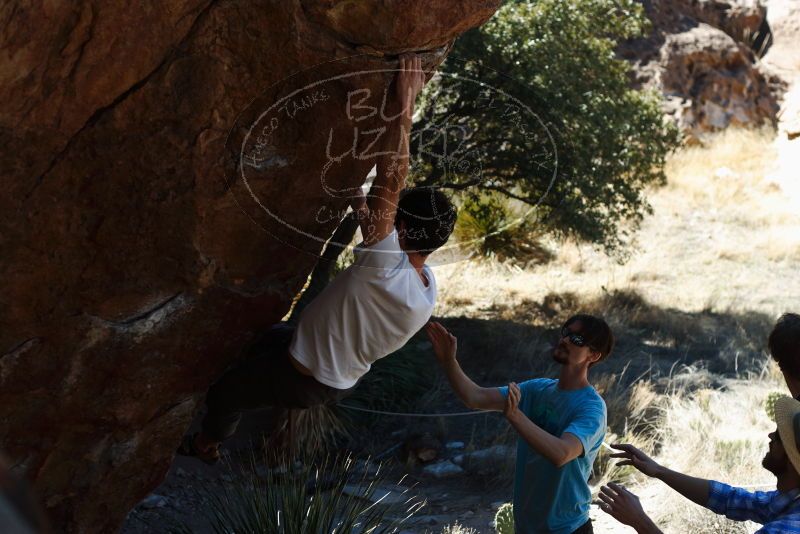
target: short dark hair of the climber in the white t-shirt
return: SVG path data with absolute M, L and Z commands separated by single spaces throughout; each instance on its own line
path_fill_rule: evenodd
M 400 223 L 404 223 L 402 228 Z M 428 255 L 447 243 L 453 233 L 456 207 L 434 187 L 406 189 L 397 204 L 394 224 L 398 235 L 405 238 L 407 252 Z

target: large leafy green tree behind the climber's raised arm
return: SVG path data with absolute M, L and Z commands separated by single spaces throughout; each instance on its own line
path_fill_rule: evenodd
M 426 88 L 415 181 L 530 207 L 541 233 L 621 254 L 679 142 L 615 54 L 649 21 L 635 0 L 506 3 L 461 36 Z

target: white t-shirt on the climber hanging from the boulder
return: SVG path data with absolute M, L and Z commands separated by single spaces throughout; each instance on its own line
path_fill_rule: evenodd
M 289 346 L 319 382 L 348 389 L 372 363 L 406 344 L 430 319 L 436 280 L 417 271 L 393 231 L 371 247 L 356 247 L 355 261 L 300 314 Z

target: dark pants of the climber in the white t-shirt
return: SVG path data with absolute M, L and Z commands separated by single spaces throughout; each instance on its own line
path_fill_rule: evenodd
M 300 373 L 289 359 L 293 333 L 283 323 L 273 326 L 247 349 L 239 366 L 211 386 L 202 424 L 206 436 L 215 441 L 228 439 L 247 410 L 310 408 L 335 403 L 352 391 L 326 386 Z

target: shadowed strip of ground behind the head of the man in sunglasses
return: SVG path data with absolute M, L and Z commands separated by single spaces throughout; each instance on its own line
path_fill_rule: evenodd
M 632 380 L 657 380 L 680 367 L 720 377 L 764 372 L 766 341 L 774 318 L 760 312 L 691 313 L 661 308 L 638 293 L 616 291 L 589 301 L 572 293 L 549 294 L 488 310 L 488 318 L 445 318 L 459 338 L 460 361 L 470 376 L 487 384 L 530 376 L 555 376 L 552 347 L 573 313 L 604 317 L 614 331 L 613 354 L 592 376 L 621 373 Z

